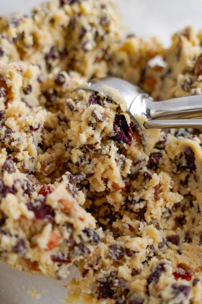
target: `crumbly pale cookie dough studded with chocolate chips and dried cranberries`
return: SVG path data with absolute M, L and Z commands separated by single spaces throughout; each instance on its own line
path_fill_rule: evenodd
M 57 279 L 74 263 L 68 304 L 200 304 L 201 131 L 145 130 L 143 149 L 124 99 L 87 81 L 201 94 L 202 32 L 163 50 L 123 38 L 113 1 L 60 0 L 0 35 L 0 260 Z

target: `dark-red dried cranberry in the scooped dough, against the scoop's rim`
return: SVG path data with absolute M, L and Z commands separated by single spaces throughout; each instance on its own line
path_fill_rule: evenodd
M 118 141 L 119 143 L 126 143 L 131 145 L 133 131 L 131 125 L 128 126 L 126 118 L 124 115 L 116 115 L 114 119 L 114 133 L 115 136 L 112 139 Z

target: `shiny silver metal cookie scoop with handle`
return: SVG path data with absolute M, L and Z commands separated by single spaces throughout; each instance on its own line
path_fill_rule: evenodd
M 199 119 L 202 118 L 202 95 L 153 101 L 137 85 L 119 78 L 98 78 L 90 83 L 88 88 L 83 89 L 98 92 L 102 86 L 107 85 L 118 90 L 120 95 L 125 98 L 128 112 L 140 130 L 136 114 L 146 116 L 145 129 L 202 128 L 202 119 Z M 145 143 L 143 134 L 142 139 Z

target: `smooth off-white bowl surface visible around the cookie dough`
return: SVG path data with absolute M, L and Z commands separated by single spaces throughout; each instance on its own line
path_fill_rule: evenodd
M 28 14 L 41 0 L 0 0 L 0 14 Z M 171 34 L 184 26 L 202 28 L 201 0 L 116 0 L 120 7 L 126 33 L 137 36 L 157 36 L 169 45 Z M 24 273 L 0 264 L 0 304 L 59 304 L 67 294 L 68 280 L 56 281 Z M 37 300 L 27 290 L 35 287 L 41 293 Z M 86 303 L 88 304 L 88 303 Z

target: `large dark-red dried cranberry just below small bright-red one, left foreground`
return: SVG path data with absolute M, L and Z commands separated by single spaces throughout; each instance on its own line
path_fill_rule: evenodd
M 45 199 L 35 199 L 27 204 L 28 210 L 34 212 L 35 219 L 52 220 L 54 217 L 53 209 L 46 205 Z

